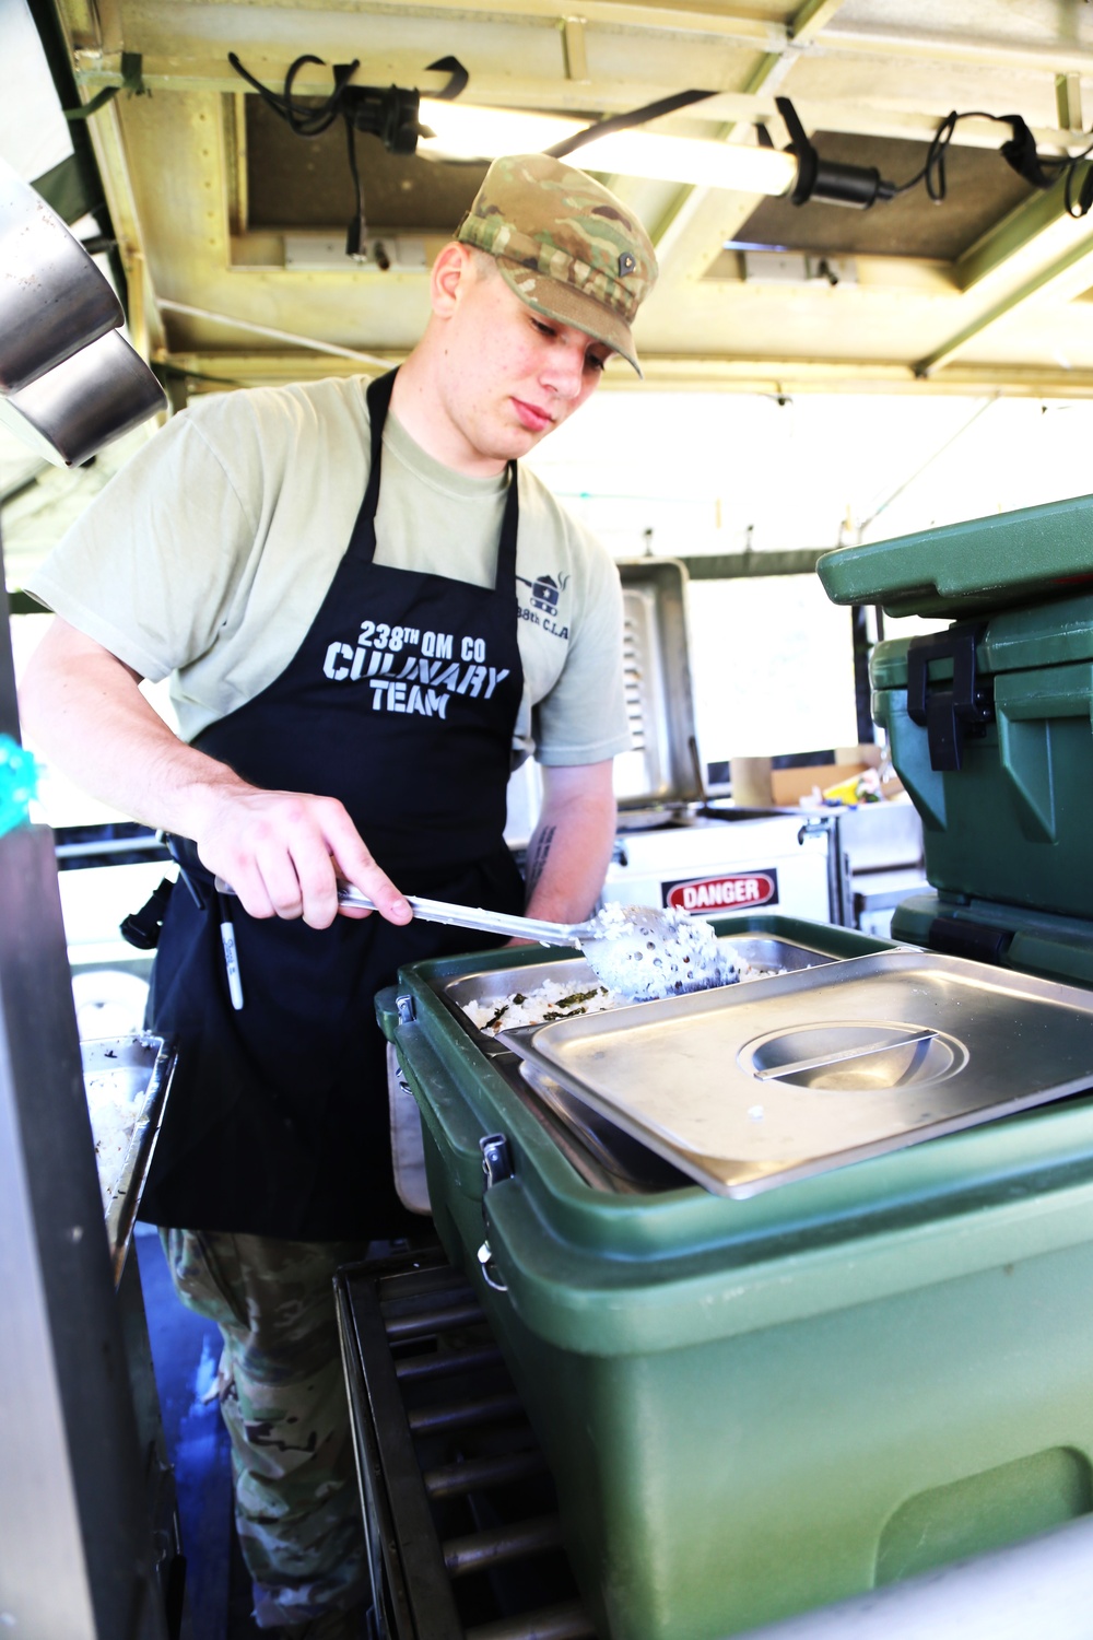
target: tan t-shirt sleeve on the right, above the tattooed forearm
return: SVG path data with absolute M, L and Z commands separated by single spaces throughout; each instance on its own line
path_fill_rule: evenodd
M 593 535 L 569 520 L 582 599 L 557 682 L 533 712 L 536 759 L 552 768 L 605 763 L 631 749 L 623 676 L 623 587 Z

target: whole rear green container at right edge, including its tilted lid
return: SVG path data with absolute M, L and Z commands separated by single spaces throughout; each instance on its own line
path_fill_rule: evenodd
M 1008 946 L 1036 913 L 1047 923 L 1031 968 L 1088 982 L 1093 497 L 844 548 L 818 572 L 836 604 L 954 620 L 870 658 L 873 718 L 923 817 L 939 895 L 936 912 L 896 913 L 893 928 L 936 943 L 941 917 L 950 948 L 980 940 L 1019 966 Z

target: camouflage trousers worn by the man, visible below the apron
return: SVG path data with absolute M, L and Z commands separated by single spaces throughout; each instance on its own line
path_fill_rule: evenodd
M 224 1340 L 220 1407 L 259 1627 L 357 1604 L 367 1560 L 331 1282 L 367 1243 L 159 1233 L 179 1297 Z

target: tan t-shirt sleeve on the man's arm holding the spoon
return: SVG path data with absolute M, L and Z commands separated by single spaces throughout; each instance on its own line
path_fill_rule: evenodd
M 254 551 L 241 482 L 257 459 L 243 395 L 167 423 L 110 481 L 26 590 L 157 682 L 203 654 Z

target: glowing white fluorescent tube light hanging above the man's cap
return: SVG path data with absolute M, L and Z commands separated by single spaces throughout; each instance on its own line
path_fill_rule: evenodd
M 421 123 L 436 136 L 420 153 L 446 159 L 497 159 L 500 154 L 537 154 L 583 131 L 580 120 L 524 113 L 515 108 L 477 108 L 459 102 L 421 98 Z M 615 131 L 592 138 L 567 156 L 567 164 L 623 177 L 690 182 L 739 194 L 788 194 L 796 159 L 777 148 L 742 148 L 649 131 Z

